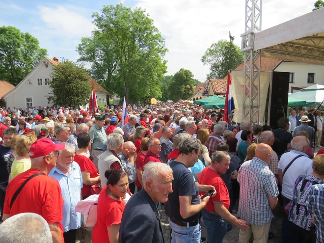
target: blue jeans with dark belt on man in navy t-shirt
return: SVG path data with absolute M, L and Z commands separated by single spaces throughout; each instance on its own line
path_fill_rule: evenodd
M 196 226 L 182 227 L 173 223 L 169 218 L 172 229 L 171 243 L 200 243 L 201 227 Z

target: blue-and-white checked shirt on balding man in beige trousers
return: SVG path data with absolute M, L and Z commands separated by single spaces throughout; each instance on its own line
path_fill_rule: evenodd
M 265 225 L 273 217 L 269 198 L 279 195 L 274 174 L 266 162 L 254 157 L 239 170 L 239 216 L 253 225 Z

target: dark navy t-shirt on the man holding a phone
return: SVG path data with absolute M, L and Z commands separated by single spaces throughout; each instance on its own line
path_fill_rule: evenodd
M 192 196 L 191 205 L 200 203 L 198 187 L 192 173 L 181 162 L 171 161 L 169 165 L 173 170 L 173 192 L 168 195 L 168 200 L 164 203 L 165 214 L 182 222 L 192 222 L 199 219 L 200 212 L 186 219 L 180 215 L 179 196 Z

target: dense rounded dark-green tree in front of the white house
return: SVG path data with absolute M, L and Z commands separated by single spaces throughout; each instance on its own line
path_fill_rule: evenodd
M 76 63 L 64 60 L 53 66 L 51 96 L 47 99 L 54 106 L 84 106 L 89 102 L 92 85 L 86 70 Z

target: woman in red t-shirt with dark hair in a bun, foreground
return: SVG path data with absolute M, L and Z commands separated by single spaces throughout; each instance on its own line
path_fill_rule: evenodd
M 105 172 L 107 185 L 98 198 L 97 222 L 92 230 L 92 243 L 118 242 L 119 226 L 125 209 L 123 198 L 128 190 L 128 175 L 122 170 Z

